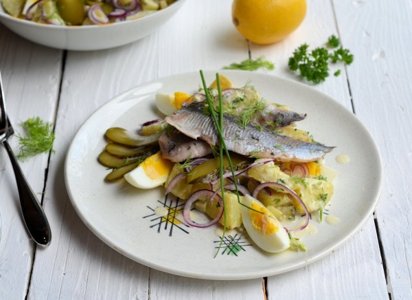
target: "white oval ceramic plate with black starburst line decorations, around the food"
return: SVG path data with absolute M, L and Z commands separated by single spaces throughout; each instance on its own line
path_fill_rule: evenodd
M 290 250 L 268 254 L 244 237 L 237 236 L 216 253 L 215 227 L 192 228 L 166 222 L 154 214 L 158 206 L 180 209 L 180 203 L 165 200 L 164 189 L 140 190 L 125 182 L 108 184 L 108 171 L 97 160 L 106 144 L 109 127 L 136 129 L 159 118 L 157 92 L 196 92 L 199 74 L 162 78 L 117 96 L 96 111 L 73 139 L 65 163 L 65 180 L 73 206 L 91 231 L 106 244 L 141 264 L 176 275 L 201 279 L 251 279 L 276 275 L 306 266 L 328 255 L 358 232 L 371 217 L 378 202 L 382 167 L 378 149 L 367 129 L 332 98 L 283 78 L 252 72 L 222 71 L 238 87 L 248 81 L 266 100 L 288 105 L 308 114 L 298 128 L 310 131 L 319 142 L 336 146 L 325 164 L 336 169 L 335 193 L 328 213 L 341 219 L 336 225 L 315 219 L 316 235 L 303 239 L 306 253 Z M 207 83 L 215 72 L 205 72 Z M 347 164 L 336 162 L 341 154 Z M 237 244 L 236 244 L 237 243 Z

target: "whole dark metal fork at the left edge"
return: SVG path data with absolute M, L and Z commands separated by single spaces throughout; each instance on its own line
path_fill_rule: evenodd
M 19 163 L 14 156 L 12 148 L 8 144 L 7 139 L 14 133 L 13 127 L 5 111 L 5 100 L 3 93 L 3 83 L 1 82 L 0 74 L 0 142 L 5 147 L 8 153 L 14 175 L 16 177 L 17 189 L 19 190 L 21 211 L 27 231 L 33 237 L 34 242 L 41 246 L 47 246 L 52 240 L 52 231 L 50 231 L 49 222 L 43 208 L 38 202 L 36 195 L 30 188 Z

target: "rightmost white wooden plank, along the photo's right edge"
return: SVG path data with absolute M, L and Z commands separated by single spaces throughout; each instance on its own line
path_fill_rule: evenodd
M 389 292 L 411 299 L 411 1 L 333 2 L 343 42 L 355 53 L 347 72 L 356 114 L 373 134 L 385 170 L 376 217 Z

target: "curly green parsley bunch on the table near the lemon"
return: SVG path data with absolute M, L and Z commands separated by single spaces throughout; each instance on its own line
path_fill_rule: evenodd
M 341 62 L 350 65 L 354 61 L 353 54 L 341 46 L 336 36 L 330 36 L 327 45 L 328 48 L 337 49 L 330 51 L 326 47 L 317 47 L 309 51 L 308 44 L 300 45 L 293 52 L 293 56 L 289 58 L 289 69 L 294 72 L 299 71 L 299 74 L 307 81 L 318 84 L 329 76 L 329 63 Z M 340 69 L 334 73 L 334 76 L 339 76 L 339 74 L 341 74 Z

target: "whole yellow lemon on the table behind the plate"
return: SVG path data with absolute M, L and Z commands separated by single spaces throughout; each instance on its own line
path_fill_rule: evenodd
M 306 14 L 306 0 L 234 0 L 232 21 L 246 39 L 271 44 L 292 33 Z

